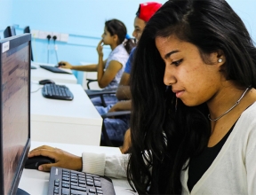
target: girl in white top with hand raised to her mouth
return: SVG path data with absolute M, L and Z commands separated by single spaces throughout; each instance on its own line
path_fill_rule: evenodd
M 87 66 L 72 66 L 66 61 L 60 61 L 59 65 L 64 68 L 69 68 L 78 71 L 98 72 L 97 80 L 102 89 L 115 89 L 120 82 L 121 76 L 124 73 L 125 64 L 129 58 L 129 53 L 135 43 L 132 39 L 124 42 L 127 34 L 124 23 L 120 20 L 108 20 L 105 22 L 104 33 L 101 35 L 102 40 L 97 46 L 99 55 L 98 64 Z M 103 60 L 103 45 L 109 45 L 111 53 L 108 58 Z M 115 104 L 117 99 L 115 96 L 106 96 L 106 104 Z M 92 98 L 94 105 L 101 105 L 100 98 Z

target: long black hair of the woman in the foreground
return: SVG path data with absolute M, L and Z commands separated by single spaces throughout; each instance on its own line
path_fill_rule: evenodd
M 205 62 L 208 54 L 223 51 L 227 79 L 256 87 L 256 49 L 225 0 L 167 1 L 148 21 L 132 65 L 127 177 L 140 194 L 180 194 L 180 172 L 211 135 L 206 104 L 188 107 L 164 85 L 165 65 L 155 39 L 170 35 L 195 44 Z

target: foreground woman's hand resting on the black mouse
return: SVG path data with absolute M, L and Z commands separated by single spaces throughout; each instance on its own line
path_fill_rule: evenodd
M 38 170 L 50 171 L 52 167 L 82 170 L 82 157 L 62 151 L 58 148 L 43 145 L 29 152 L 28 158 L 40 155 L 55 160 L 55 163 L 40 165 Z

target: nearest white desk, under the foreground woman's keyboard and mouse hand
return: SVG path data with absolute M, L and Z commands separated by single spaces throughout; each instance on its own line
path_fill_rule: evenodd
M 56 143 L 44 143 L 44 142 L 32 142 L 31 149 L 37 146 L 48 144 L 52 147 L 58 147 L 67 152 L 73 153 L 77 156 L 81 156 L 82 152 L 95 152 L 95 153 L 108 153 L 117 154 L 120 153 L 118 148 L 115 147 L 101 147 L 101 146 L 88 146 L 88 145 L 78 145 L 78 144 L 56 144 Z M 48 183 L 49 183 L 49 173 L 41 172 L 38 170 L 24 169 L 19 188 L 28 191 L 31 195 L 47 195 Z M 124 179 L 114 179 L 111 178 L 114 183 L 114 188 L 116 195 L 131 195 L 133 193 L 129 183 Z

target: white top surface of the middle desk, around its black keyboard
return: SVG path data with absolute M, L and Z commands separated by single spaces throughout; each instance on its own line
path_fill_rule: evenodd
M 31 120 L 99 125 L 102 122 L 100 113 L 82 86 L 68 83 L 64 85 L 73 93 L 72 101 L 44 98 L 41 91 L 43 85 L 31 83 Z

